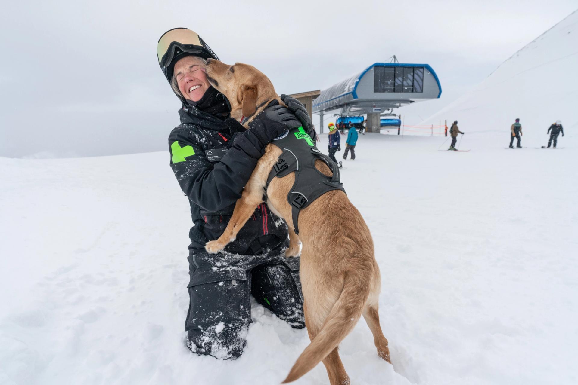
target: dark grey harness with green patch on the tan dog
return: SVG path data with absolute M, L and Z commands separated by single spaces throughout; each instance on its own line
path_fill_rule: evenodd
M 287 194 L 287 201 L 291 205 L 295 234 L 299 234 L 297 225 L 299 211 L 326 192 L 331 190 L 345 192 L 339 179 L 339 167 L 329 156 L 321 154 L 302 126 L 288 130 L 271 143 L 283 152 L 279 155 L 277 163 L 273 165 L 266 186 L 269 186 L 273 178 L 283 178 L 295 171 L 295 182 Z M 315 168 L 317 159 L 325 162 L 329 167 L 333 174 L 331 177 Z

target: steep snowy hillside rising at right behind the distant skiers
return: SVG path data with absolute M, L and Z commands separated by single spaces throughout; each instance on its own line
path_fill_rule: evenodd
M 520 118 L 524 137 L 532 144 L 557 119 L 566 130 L 577 129 L 577 68 L 578 10 L 422 124 L 457 119 L 462 130 L 483 130 L 507 139 L 510 125 Z

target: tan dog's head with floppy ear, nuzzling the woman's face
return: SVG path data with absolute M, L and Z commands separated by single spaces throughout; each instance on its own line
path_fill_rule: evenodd
M 207 60 L 207 80 L 231 103 L 231 116 L 237 120 L 255 113 L 258 106 L 278 99 L 273 84 L 260 70 L 243 63 L 228 65 Z

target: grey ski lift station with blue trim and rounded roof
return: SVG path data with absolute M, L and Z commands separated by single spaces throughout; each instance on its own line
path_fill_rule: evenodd
M 428 64 L 375 63 L 321 91 L 313 100 L 312 112 L 320 115 L 320 132 L 323 115 L 332 111 L 341 117 L 367 114 L 366 130 L 379 132 L 383 115 L 394 117 L 393 109 L 440 95 L 442 86 Z

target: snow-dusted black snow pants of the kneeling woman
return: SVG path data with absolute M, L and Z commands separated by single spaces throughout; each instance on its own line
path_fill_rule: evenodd
M 238 358 L 247 345 L 250 295 L 291 327 L 305 327 L 299 257 L 285 257 L 286 244 L 271 237 L 258 239 L 257 255 L 191 250 L 185 328 L 192 352 Z

